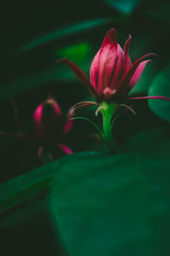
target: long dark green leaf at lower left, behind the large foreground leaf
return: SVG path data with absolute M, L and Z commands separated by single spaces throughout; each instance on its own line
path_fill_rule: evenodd
M 76 155 L 82 158 L 82 156 L 89 155 L 94 156 L 95 152 L 84 152 L 80 154 L 70 154 L 66 157 L 66 161 L 71 161 Z M 65 162 L 65 158 L 50 162 L 48 165 L 42 166 L 32 172 L 28 172 L 20 177 L 8 181 L 0 186 L 0 212 L 6 211 L 10 207 L 25 201 L 32 195 L 36 195 L 37 192 L 47 188 L 51 185 L 54 177 L 54 171 L 56 171 L 60 165 Z

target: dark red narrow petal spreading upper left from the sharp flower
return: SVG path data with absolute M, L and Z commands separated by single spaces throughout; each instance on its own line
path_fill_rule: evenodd
M 57 62 L 63 62 L 63 63 L 65 63 L 65 65 L 67 67 L 70 67 L 71 71 L 77 76 L 77 79 L 79 79 L 82 82 L 82 84 L 84 84 L 88 88 L 90 93 L 94 97 L 98 96 L 96 90 L 94 89 L 94 85 L 90 83 L 88 76 L 82 71 L 82 69 L 80 67 L 77 67 L 77 65 L 75 63 L 73 63 L 72 61 L 69 61 L 67 59 L 62 59 Z

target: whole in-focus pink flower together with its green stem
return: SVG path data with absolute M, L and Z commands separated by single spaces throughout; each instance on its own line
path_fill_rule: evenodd
M 128 93 L 137 84 L 144 67 L 151 60 L 150 56 L 156 55 L 149 53 L 141 56 L 132 63 L 129 55 L 129 44 L 131 36 L 127 39 L 124 49 L 117 43 L 116 31 L 111 29 L 106 33 L 101 48 L 94 56 L 90 67 L 90 79 L 77 67 L 75 63 L 66 58 L 60 60 L 77 76 L 89 92 L 94 96 L 95 102 L 79 102 L 72 109 L 84 108 L 96 105 L 96 115 L 100 112 L 103 116 L 102 137 L 112 150 L 116 150 L 116 143 L 112 137 L 112 126 L 116 118 L 117 108 L 127 108 L 134 113 L 133 108 L 127 105 L 132 100 L 144 99 L 163 99 L 169 101 L 166 96 L 140 96 L 129 97 Z M 99 129 L 98 129 L 99 130 Z

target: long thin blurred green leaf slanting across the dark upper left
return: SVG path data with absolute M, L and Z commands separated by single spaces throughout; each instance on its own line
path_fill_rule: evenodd
M 73 24 L 71 26 L 62 27 L 54 32 L 49 32 L 42 37 L 36 38 L 32 40 L 29 44 L 22 46 L 18 49 L 18 53 L 25 52 L 26 50 L 33 49 L 39 45 L 47 44 L 48 42 L 57 40 L 59 38 L 65 38 L 66 36 L 72 36 L 77 32 L 83 32 L 86 30 L 94 29 L 94 27 L 101 26 L 103 24 L 107 24 L 111 22 L 111 18 L 100 18 L 96 20 L 87 20 L 82 21 L 80 23 Z

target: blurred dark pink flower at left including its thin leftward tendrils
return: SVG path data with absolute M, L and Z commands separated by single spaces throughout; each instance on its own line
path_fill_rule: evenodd
M 23 129 L 16 107 L 15 117 L 18 121 L 20 132 L 0 131 L 0 134 L 31 143 L 33 148 L 37 148 L 37 158 L 42 163 L 72 153 L 71 148 L 65 145 L 65 138 L 72 127 L 72 112 L 70 111 L 67 115 L 62 113 L 58 102 L 54 100 L 53 96 L 48 96 L 48 99 L 35 109 L 32 116 L 33 134 L 29 134 Z

